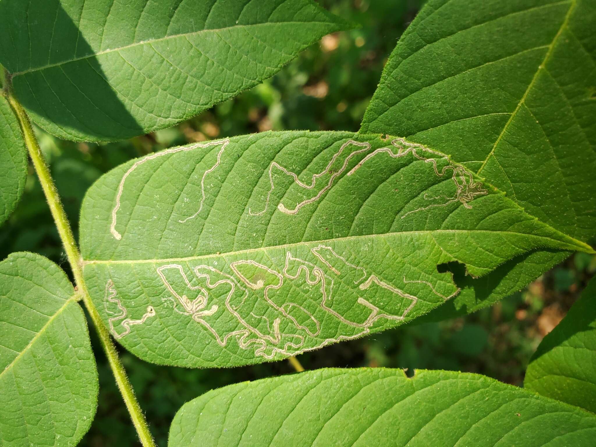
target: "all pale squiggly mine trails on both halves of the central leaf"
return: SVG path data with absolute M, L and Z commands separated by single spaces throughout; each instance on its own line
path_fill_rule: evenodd
M 116 229 L 117 216 L 122 206 L 126 180 L 134 175 L 139 166 L 169 154 L 219 147 L 215 162 L 204 170 L 201 177 L 201 197 L 197 212 L 178 222 L 185 224 L 197 217 L 204 209 L 206 178 L 221 165 L 222 157 L 225 156 L 226 148 L 230 144 L 230 139 L 226 138 L 172 148 L 151 154 L 132 164 L 120 179 L 117 187 L 115 204 L 111 209 L 111 235 L 116 240 L 122 239 L 122 234 Z M 347 171 L 353 158 L 363 154 L 365 154 L 364 157 Z M 411 213 L 436 206 L 447 206 L 454 202 L 460 202 L 466 208 L 471 208 L 468 202 L 479 195 L 488 194 L 482 184 L 475 181 L 473 175 L 463 166 L 451 162 L 447 156 L 423 145 L 407 142 L 403 138 L 395 138 L 389 146 L 371 151 L 370 142 L 348 139 L 333 154 L 324 169 L 311 176 L 309 182 L 301 181 L 297 173 L 291 172 L 282 164 L 271 162 L 267 171 L 270 188 L 266 194 L 265 206 L 259 212 L 253 212 L 249 207 L 248 214 L 257 217 L 262 216 L 268 210 L 280 174 L 290 176 L 293 179 L 293 184 L 298 185 L 304 191 L 317 191 L 312 197 L 299 201 L 294 207 L 286 206 L 281 201 L 278 203 L 278 210 L 286 215 L 294 216 L 309 204 L 321 200 L 324 194 L 333 187 L 337 178 L 342 175 L 347 177 L 354 175 L 371 159 L 383 154 L 392 159 L 399 159 L 411 154 L 415 160 L 423 160 L 424 163 L 432 164 L 437 177 L 446 176 L 451 171 L 451 181 L 455 185 L 454 195 L 427 197 L 425 194 L 424 200 L 433 202 L 441 200 L 440 203 L 430 203 L 428 206 L 418 207 L 402 215 L 402 219 Z M 338 160 L 342 160 L 342 157 L 341 166 L 334 170 L 334 165 L 339 163 Z M 437 159 L 443 159 L 447 164 L 439 168 Z M 326 176 L 328 179 L 322 182 Z M 173 311 L 190 316 L 213 336 L 219 346 L 225 347 L 230 340 L 236 340 L 241 349 L 253 349 L 255 356 L 266 359 L 274 358 L 277 355 L 296 355 L 340 340 L 361 337 L 370 333 L 373 325 L 381 319 L 402 321 L 418 302 L 417 296 L 406 293 L 362 266 L 348 262 L 333 247 L 319 244 L 312 247 L 310 253 L 315 262 L 320 262 L 321 266 L 306 259 L 300 259 L 290 251 L 285 253 L 285 265 L 281 272 L 253 259 L 240 259 L 229 263 L 233 275 L 226 274 L 212 265 L 197 265 L 191 269 L 193 276 L 189 277 L 181 263 L 156 265 L 156 273 L 169 294 L 162 298 L 162 301 L 169 303 Z M 460 291 L 458 288 L 450 296 L 443 296 L 428 281 L 408 280 L 405 276 L 403 277 L 403 284 L 412 283 L 426 285 L 430 293 L 443 300 L 448 300 Z M 316 302 L 316 307 L 310 306 L 311 308 L 307 309 L 304 303 L 300 305 L 285 301 L 294 288 L 303 291 L 304 294 L 312 293 L 312 290 L 318 291 L 318 298 L 313 300 Z M 357 296 L 354 306 L 359 309 L 362 319 L 347 318 L 346 315 L 342 315 L 334 308 L 334 297 L 338 293 L 340 296 L 346 294 Z M 218 297 L 222 296 L 225 296 L 225 302 L 219 301 L 218 303 Z M 276 302 L 280 297 L 284 299 L 283 304 Z M 116 305 L 118 312 L 110 311 L 108 303 Z M 266 303 L 266 306 L 265 308 L 259 307 L 257 303 Z M 309 303 L 312 304 L 312 302 Z M 111 315 L 108 318 L 108 325 L 111 333 L 117 339 L 122 339 L 131 333 L 132 325 L 145 324 L 156 315 L 153 306 L 147 306 L 147 311 L 141 318 L 127 318 L 128 311 L 117 298 L 117 291 L 112 280 L 108 280 L 105 285 L 104 308 Z M 392 309 L 392 311 L 387 309 Z M 220 320 L 222 312 L 233 316 L 232 321 L 235 323 L 228 326 L 235 328 L 229 330 L 222 328 Z M 336 330 L 337 335 L 334 337 L 328 337 L 329 334 L 322 335 L 323 325 L 328 321 L 334 321 L 333 324 L 339 327 Z M 117 329 L 118 325 L 123 330 Z

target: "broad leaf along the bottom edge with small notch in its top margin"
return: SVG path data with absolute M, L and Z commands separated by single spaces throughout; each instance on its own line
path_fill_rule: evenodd
M 483 375 L 360 368 L 212 390 L 179 409 L 168 445 L 591 447 L 595 437 L 594 415 Z

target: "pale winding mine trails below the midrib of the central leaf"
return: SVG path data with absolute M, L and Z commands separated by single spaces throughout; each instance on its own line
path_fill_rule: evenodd
M 254 349 L 254 355 L 262 356 L 266 359 L 274 358 L 276 355 L 291 356 L 306 350 L 318 349 L 319 347 L 339 342 L 341 340 L 351 340 L 370 333 L 371 327 L 378 320 L 393 319 L 403 320 L 406 315 L 414 308 L 418 302 L 418 297 L 402 291 L 400 288 L 381 280 L 377 275 L 370 274 L 366 269 L 348 262 L 343 256 L 337 254 L 332 247 L 319 244 L 311 249 L 311 253 L 317 259 L 328 267 L 331 275 L 339 278 L 333 278 L 326 274 L 322 268 L 307 260 L 293 256 L 286 252 L 285 265 L 283 271 L 278 272 L 266 265 L 254 260 L 237 260 L 230 264 L 235 278 L 221 270 L 210 265 L 197 265 L 193 269 L 194 278 L 189 279 L 184 272 L 184 267 L 178 263 L 169 263 L 157 267 L 156 272 L 159 275 L 163 285 L 169 291 L 170 296 L 163 298 L 163 302 L 170 302 L 174 311 L 181 315 L 190 316 L 198 324 L 202 325 L 216 342 L 225 347 L 229 340 L 235 339 L 241 349 Z M 248 266 L 252 269 L 252 275 L 247 275 Z M 346 272 L 347 269 L 347 272 Z M 172 273 L 175 275 L 172 277 Z M 271 284 L 266 284 L 262 279 L 263 275 L 269 274 L 269 278 L 275 278 Z M 259 278 L 254 280 L 254 278 Z M 356 278 L 353 280 L 352 278 Z M 203 280 L 202 285 L 193 285 L 196 280 Z M 284 285 L 289 284 L 290 288 L 315 287 L 319 291 L 318 312 L 309 311 L 299 303 L 284 302 L 283 305 L 275 303 L 275 298 L 271 297 L 272 291 L 280 290 Z M 368 315 L 364 321 L 352 321 L 341 313 L 333 309 L 329 303 L 333 302 L 336 289 L 348 287 L 348 284 L 354 293 L 358 294 L 357 303 L 363 306 L 362 309 L 368 310 Z M 427 281 L 408 281 L 403 278 L 403 283 L 421 283 L 426 284 L 433 294 L 448 300 L 455 296 L 455 291 L 451 296 L 443 296 L 438 293 L 432 284 Z M 225 287 L 221 291 L 221 287 Z M 401 313 L 394 314 L 381 310 L 374 304 L 378 301 L 378 290 L 381 288 L 389 291 L 391 296 L 399 296 L 400 299 L 393 300 L 392 308 L 403 308 L 403 301 L 406 300 L 405 309 Z M 188 297 L 180 290 L 193 291 L 197 293 L 194 297 Z M 283 293 L 283 291 L 281 292 Z M 345 293 L 345 290 L 344 290 Z M 105 303 L 115 303 L 120 309 L 119 315 L 112 316 L 110 321 L 110 330 L 114 337 L 122 339 L 131 331 L 131 325 L 144 324 L 151 316 L 156 315 L 152 306 L 148 306 L 147 312 L 140 319 L 126 318 L 126 308 L 116 298 L 116 290 L 111 280 L 105 287 Z M 210 297 L 225 296 L 225 312 L 234 316 L 235 321 L 241 325 L 239 330 L 222 333 L 215 327 L 215 322 L 221 315 L 215 316 L 219 311 L 219 305 L 212 303 Z M 268 307 L 262 315 L 257 315 L 255 303 L 262 299 Z M 387 299 L 387 302 L 392 302 Z M 106 308 L 108 313 L 110 312 Z M 272 318 L 272 315 L 275 318 Z M 210 317 L 213 321 L 210 321 Z M 339 335 L 337 337 L 319 337 L 322 330 L 322 321 L 334 319 L 336 324 L 343 325 L 342 332 L 349 335 Z M 114 322 L 122 320 L 120 323 L 125 331 L 118 332 L 114 328 Z M 273 320 L 273 321 L 271 321 Z M 265 327 L 263 328 L 263 324 Z M 327 323 L 329 324 L 329 323 Z M 280 327 L 291 329 L 284 332 Z M 351 329 L 351 330 L 350 330 Z

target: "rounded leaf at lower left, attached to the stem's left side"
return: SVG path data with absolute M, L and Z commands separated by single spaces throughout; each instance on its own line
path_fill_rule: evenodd
M 33 253 L 0 262 L 0 444 L 74 446 L 97 407 L 98 379 L 75 291 Z

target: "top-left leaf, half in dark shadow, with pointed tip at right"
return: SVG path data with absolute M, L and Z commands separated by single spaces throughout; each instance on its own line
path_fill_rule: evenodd
M 228 100 L 348 27 L 312 0 L 2 1 L 0 63 L 46 131 L 117 140 Z

